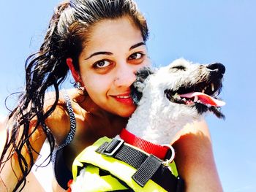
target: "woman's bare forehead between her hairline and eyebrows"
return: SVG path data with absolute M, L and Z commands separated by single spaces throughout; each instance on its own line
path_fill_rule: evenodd
M 84 49 L 89 52 L 126 48 L 143 42 L 140 29 L 127 17 L 102 20 L 91 26 Z

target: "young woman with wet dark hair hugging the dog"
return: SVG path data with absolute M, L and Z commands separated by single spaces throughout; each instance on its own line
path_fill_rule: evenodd
M 132 0 L 59 4 L 42 46 L 26 61 L 26 89 L 1 147 L 0 191 L 23 188 L 45 139 L 56 191 L 67 189 L 75 156 L 100 137 L 115 137 L 135 111 L 130 85 L 150 65 L 147 39 L 146 20 Z M 69 70 L 76 88 L 59 91 Z M 46 94 L 50 87 L 55 91 Z M 172 144 L 186 191 L 222 191 L 206 123 L 187 126 Z

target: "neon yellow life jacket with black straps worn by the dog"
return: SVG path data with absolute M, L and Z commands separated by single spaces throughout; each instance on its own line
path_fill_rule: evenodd
M 108 137 L 75 158 L 72 174 L 72 191 L 183 191 L 174 161 L 166 166 L 154 155 Z

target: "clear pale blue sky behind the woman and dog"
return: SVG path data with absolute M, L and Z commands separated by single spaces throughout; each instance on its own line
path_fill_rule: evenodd
M 4 1 L 0 24 L 0 114 L 4 99 L 22 90 L 24 61 L 42 42 L 57 0 Z M 225 64 L 222 111 L 207 118 L 225 191 L 256 191 L 256 1 L 138 0 L 151 34 L 148 50 L 156 66 L 176 58 Z M 69 82 L 67 82 L 67 85 Z M 8 102 L 12 105 L 12 99 Z M 203 174 L 203 173 L 202 173 Z

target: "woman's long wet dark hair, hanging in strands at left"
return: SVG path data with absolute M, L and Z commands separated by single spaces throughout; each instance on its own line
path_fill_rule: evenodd
M 146 20 L 132 0 L 70 0 L 59 4 L 56 8 L 39 51 L 31 54 L 26 60 L 25 91 L 20 93 L 18 107 L 9 115 L 7 140 L 0 158 L 0 173 L 5 162 L 15 155 L 22 176 L 16 174 L 18 184 L 14 191 L 21 191 L 26 184 L 26 176 L 34 164 L 32 153 L 39 154 L 29 140 L 39 127 L 50 143 L 48 158 L 52 156 L 55 139 L 45 120 L 58 104 L 59 85 L 65 80 L 69 71 L 66 59 L 72 58 L 74 67 L 79 72 L 78 56 L 87 41 L 86 32 L 89 28 L 100 20 L 123 16 L 128 16 L 140 28 L 143 40 L 146 42 L 148 39 Z M 53 105 L 45 111 L 44 100 L 48 88 L 54 88 L 56 96 Z M 31 130 L 31 120 L 34 119 L 37 123 Z M 21 153 L 24 147 L 28 151 L 26 155 L 29 155 L 29 160 Z

